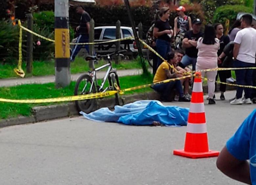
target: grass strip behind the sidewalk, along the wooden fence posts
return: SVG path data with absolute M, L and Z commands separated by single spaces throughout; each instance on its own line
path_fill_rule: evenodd
M 97 66 L 100 66 L 103 64 L 106 64 L 106 62 L 101 60 L 95 66 L 97 67 Z M 26 73 L 25 77 L 47 76 L 47 75 L 55 74 L 54 65 L 55 65 L 54 60 L 52 60 L 52 61 L 34 61 L 33 62 L 33 74 L 26 73 L 26 65 L 24 62 L 22 64 L 22 68 Z M 141 68 L 141 65 L 139 64 L 138 60 L 120 61 L 120 63 L 118 65 L 116 65 L 115 62 L 112 62 L 112 66 L 113 66 L 113 68 L 117 68 L 119 70 Z M 13 71 L 13 69 L 16 67 L 17 67 L 17 65 L 10 65 L 10 64 L 0 65 L 0 79 L 18 78 L 18 76 Z M 71 74 L 87 72 L 90 70 L 89 62 L 85 61 L 82 57 L 76 57 L 75 62 L 71 63 L 70 69 L 71 69 Z

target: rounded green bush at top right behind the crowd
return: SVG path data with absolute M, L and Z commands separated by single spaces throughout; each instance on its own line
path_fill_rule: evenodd
M 224 5 L 216 9 L 213 16 L 213 22 L 225 25 L 226 20 L 229 19 L 230 25 L 232 25 L 239 12 L 252 13 L 253 9 L 242 5 Z

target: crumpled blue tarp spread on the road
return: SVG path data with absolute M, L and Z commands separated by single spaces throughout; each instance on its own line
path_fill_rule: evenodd
M 142 100 L 123 106 L 115 106 L 115 110 L 101 108 L 86 114 L 80 112 L 86 119 L 102 122 L 118 122 L 126 125 L 152 125 L 159 121 L 164 125 L 187 125 L 188 108 L 178 106 L 164 106 L 159 101 Z

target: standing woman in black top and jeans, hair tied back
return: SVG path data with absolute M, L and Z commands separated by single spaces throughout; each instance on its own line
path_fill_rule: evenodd
M 161 8 L 159 11 L 159 17 L 160 19 L 155 23 L 153 35 L 157 38 L 157 52 L 166 59 L 166 54 L 170 52 L 170 43 L 173 36 L 173 30 L 169 23 L 170 10 L 166 7 Z M 163 61 L 158 58 L 157 67 L 159 67 L 162 62 Z

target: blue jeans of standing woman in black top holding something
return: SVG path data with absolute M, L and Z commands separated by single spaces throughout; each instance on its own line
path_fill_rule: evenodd
M 161 40 L 161 39 L 157 39 L 156 41 L 156 46 L 157 46 L 157 52 L 164 58 L 166 59 L 166 55 L 167 53 L 169 53 L 171 51 L 171 47 L 170 47 L 170 43 L 165 41 L 165 40 Z M 159 67 L 159 65 L 162 64 L 162 59 L 160 59 L 158 57 L 158 62 L 157 62 L 157 68 Z

